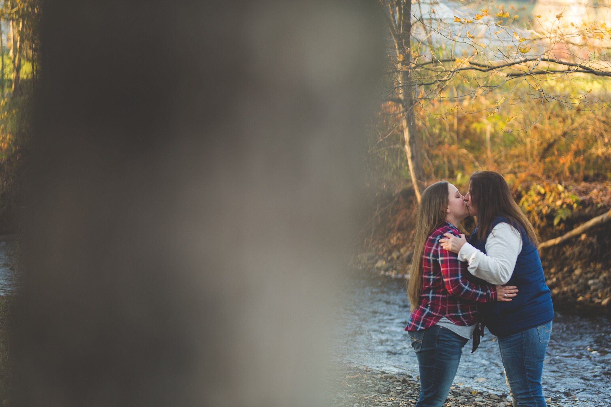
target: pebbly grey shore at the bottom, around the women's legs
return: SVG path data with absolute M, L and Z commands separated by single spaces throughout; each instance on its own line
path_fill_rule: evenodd
M 330 407 L 404 407 L 414 406 L 420 392 L 420 378 L 408 373 L 386 373 L 369 367 L 335 367 L 329 380 Z M 507 407 L 506 393 L 486 393 L 452 386 L 445 407 Z

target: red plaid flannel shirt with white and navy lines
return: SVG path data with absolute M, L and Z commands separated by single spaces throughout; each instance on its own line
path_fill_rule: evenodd
M 442 317 L 456 325 L 473 325 L 478 322 L 475 304 L 496 301 L 496 287 L 472 276 L 456 253 L 441 248 L 439 239 L 444 233 L 460 234 L 452 223 L 445 222 L 426 239 L 420 304 L 410 315 L 406 331 L 424 330 Z

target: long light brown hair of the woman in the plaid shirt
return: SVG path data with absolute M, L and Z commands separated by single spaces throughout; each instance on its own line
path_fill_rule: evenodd
M 429 185 L 420 198 L 414 231 L 414 256 L 409 272 L 408 300 L 414 311 L 420 303 L 422 292 L 422 254 L 426 239 L 445 222 L 445 210 L 448 207 L 448 182 L 437 181 Z

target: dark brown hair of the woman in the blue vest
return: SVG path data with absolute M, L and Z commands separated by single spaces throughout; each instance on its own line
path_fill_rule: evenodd
M 533 245 L 539 245 L 535 228 L 511 196 L 502 175 L 494 171 L 476 171 L 471 175 L 469 192 L 477 209 L 477 239 L 490 234 L 494 218 L 504 216 L 514 228 L 519 230 L 521 226 Z

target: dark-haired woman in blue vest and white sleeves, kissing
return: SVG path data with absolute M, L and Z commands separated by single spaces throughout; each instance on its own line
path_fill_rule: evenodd
M 546 407 L 541 389 L 543 361 L 552 331 L 554 308 L 545 284 L 535 229 L 513 200 L 505 179 L 494 171 L 477 171 L 465 196 L 477 228 L 469 242 L 446 234 L 439 242 L 458 253 L 467 270 L 491 284 L 517 286 L 511 302 L 479 304 L 499 350 L 514 407 Z

